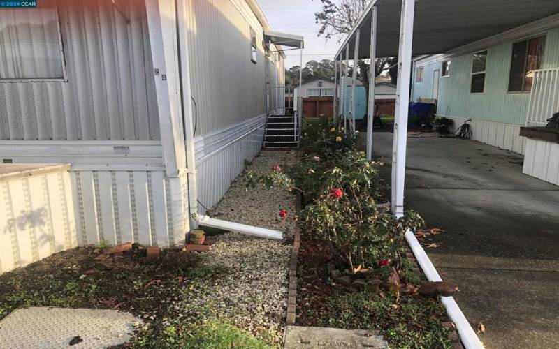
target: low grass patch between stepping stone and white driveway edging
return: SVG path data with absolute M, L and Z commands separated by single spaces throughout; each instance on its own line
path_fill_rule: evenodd
M 322 325 L 379 331 L 391 348 L 451 348 L 447 329 L 437 318 L 441 305 L 432 299 L 400 297 L 396 304 L 386 292 L 361 291 L 329 299 Z

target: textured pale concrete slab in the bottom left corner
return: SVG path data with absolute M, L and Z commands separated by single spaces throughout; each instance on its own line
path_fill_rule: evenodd
M 116 310 L 33 306 L 17 309 L 0 321 L 0 348 L 107 348 L 130 341 L 141 323 Z

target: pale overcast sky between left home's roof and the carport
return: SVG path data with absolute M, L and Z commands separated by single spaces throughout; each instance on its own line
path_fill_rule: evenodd
M 320 0 L 257 0 L 266 14 L 273 31 L 305 37 L 303 66 L 307 61 L 333 59 L 339 43 L 337 38 L 317 38 L 319 24 L 314 23 L 314 13 L 321 9 Z M 286 47 L 287 48 L 287 47 Z M 299 65 L 299 51 L 286 51 L 285 67 Z

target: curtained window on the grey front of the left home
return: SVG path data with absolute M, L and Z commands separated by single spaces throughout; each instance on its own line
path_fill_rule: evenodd
M 0 10 L 0 80 L 62 80 L 55 8 Z

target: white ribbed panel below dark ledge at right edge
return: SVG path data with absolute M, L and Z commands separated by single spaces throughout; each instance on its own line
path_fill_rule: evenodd
M 526 138 L 522 172 L 559 186 L 559 144 Z

